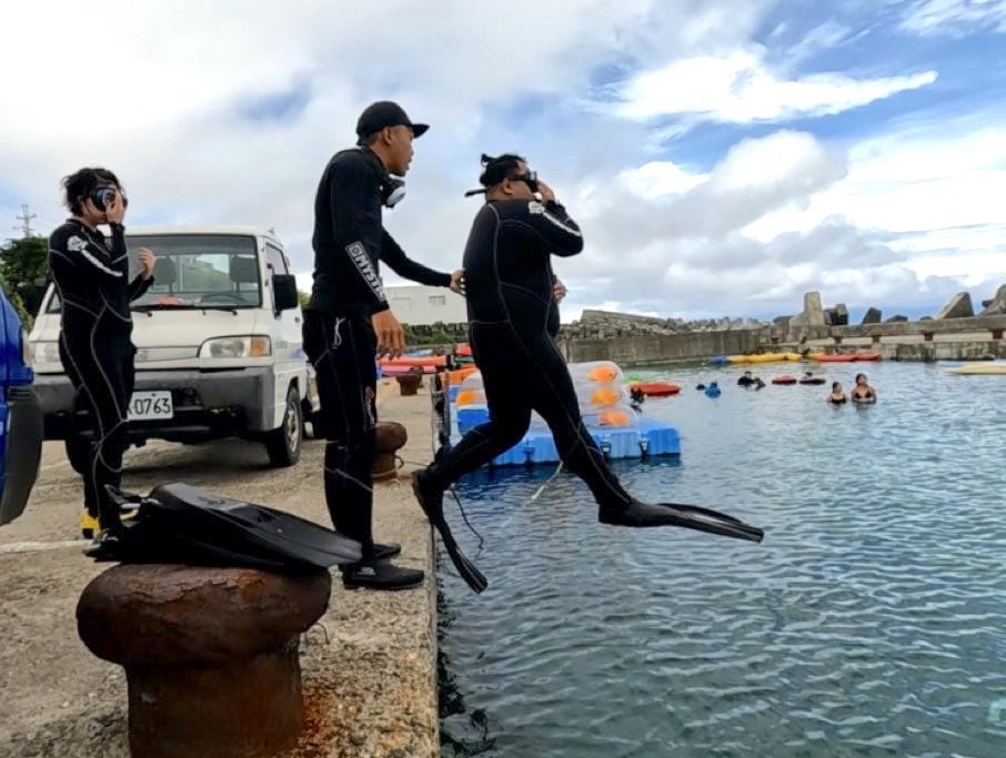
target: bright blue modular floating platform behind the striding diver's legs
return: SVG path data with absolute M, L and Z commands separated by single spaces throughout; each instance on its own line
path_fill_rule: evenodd
M 451 403 L 451 444 L 456 445 L 473 426 L 489 421 L 484 406 L 461 411 Z M 587 431 L 608 458 L 644 458 L 652 455 L 681 455 L 681 435 L 667 424 L 643 418 L 633 428 L 591 427 Z M 547 427 L 532 426 L 524 438 L 492 461 L 494 466 L 524 466 L 559 463 L 559 452 Z

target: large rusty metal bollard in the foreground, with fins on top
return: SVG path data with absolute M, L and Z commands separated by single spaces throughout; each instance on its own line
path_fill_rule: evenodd
M 88 649 L 125 668 L 129 745 L 143 758 L 258 758 L 304 721 L 299 635 L 329 605 L 328 572 L 120 565 L 77 605 Z

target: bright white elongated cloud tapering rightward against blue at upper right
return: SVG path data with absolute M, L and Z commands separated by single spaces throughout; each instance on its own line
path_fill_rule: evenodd
M 622 89 L 615 112 L 638 120 L 779 121 L 841 113 L 936 81 L 935 71 L 874 79 L 836 72 L 789 78 L 769 70 L 764 52 L 754 50 L 687 58 L 642 73 Z

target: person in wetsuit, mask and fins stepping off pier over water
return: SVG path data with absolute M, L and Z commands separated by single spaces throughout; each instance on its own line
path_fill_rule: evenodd
M 487 586 L 451 535 L 444 492 L 520 442 L 532 411 L 547 422 L 565 467 L 591 488 L 602 524 L 683 526 L 761 542 L 762 529 L 731 516 L 690 505 L 644 503 L 622 487 L 584 426 L 570 372 L 547 327 L 555 307 L 551 256 L 583 250 L 580 226 L 520 155 L 483 155 L 482 165 L 482 189 L 467 194 L 484 193 L 485 204 L 472 223 L 463 265 L 470 343 L 490 421 L 453 448 L 442 447 L 430 466 L 412 475 L 416 499 L 459 574 L 476 593 Z

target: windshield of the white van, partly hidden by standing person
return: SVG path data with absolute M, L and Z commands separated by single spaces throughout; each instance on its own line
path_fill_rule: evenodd
M 154 283 L 132 302 L 133 310 L 259 307 L 262 285 L 255 237 L 237 234 L 154 234 L 125 236 L 130 279 L 137 255 L 149 247 L 158 256 Z M 53 292 L 47 312 L 60 311 Z

